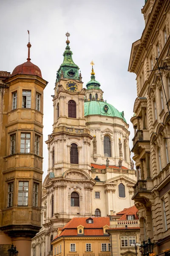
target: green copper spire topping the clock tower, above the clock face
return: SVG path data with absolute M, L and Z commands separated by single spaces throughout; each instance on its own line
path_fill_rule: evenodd
M 61 74 L 62 78 L 72 78 L 72 79 L 77 79 L 79 80 L 79 67 L 74 63 L 72 55 L 73 52 L 71 52 L 70 49 L 70 41 L 68 40 L 68 37 L 70 36 L 70 33 L 66 32 L 65 33 L 67 40 L 66 44 L 67 46 L 65 47 L 65 52 L 63 53 L 64 60 L 59 67 L 59 70 L 57 71 L 57 79 L 56 82 L 61 79 Z

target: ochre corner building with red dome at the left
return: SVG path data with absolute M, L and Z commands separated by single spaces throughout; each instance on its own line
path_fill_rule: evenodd
M 0 255 L 13 243 L 30 256 L 41 226 L 43 90 L 39 67 L 0 71 Z

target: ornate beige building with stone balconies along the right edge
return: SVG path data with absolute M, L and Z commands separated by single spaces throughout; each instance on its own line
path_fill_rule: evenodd
M 141 241 L 150 237 L 155 254 L 170 255 L 170 2 L 147 0 L 142 13 L 145 28 L 132 44 L 128 69 L 136 73 L 138 96 L 131 118 L 138 180 L 133 200 Z

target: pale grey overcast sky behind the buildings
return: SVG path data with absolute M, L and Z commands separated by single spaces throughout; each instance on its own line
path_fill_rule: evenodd
M 144 0 L 1 0 L 0 70 L 11 72 L 26 61 L 30 30 L 31 62 L 40 67 L 48 81 L 44 90 L 43 140 L 52 132 L 56 71 L 63 61 L 65 32 L 71 34 L 73 60 L 85 84 L 91 76 L 93 59 L 96 80 L 104 99 L 124 111 L 130 127 L 132 148 L 133 104 L 136 75 L 127 72 L 132 43 L 141 38 Z M 43 178 L 48 169 L 48 151 L 43 148 Z

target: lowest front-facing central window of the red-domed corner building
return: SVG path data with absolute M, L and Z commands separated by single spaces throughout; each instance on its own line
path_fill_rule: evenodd
M 28 181 L 19 181 L 18 205 L 28 206 Z

